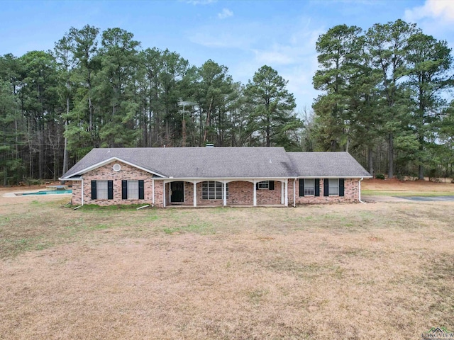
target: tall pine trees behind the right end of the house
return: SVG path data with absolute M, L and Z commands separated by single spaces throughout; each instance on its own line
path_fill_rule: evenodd
M 323 94 L 304 132 L 314 149 L 348 151 L 389 178 L 453 173 L 453 57 L 444 40 L 397 20 L 335 26 L 316 50 L 313 81 Z

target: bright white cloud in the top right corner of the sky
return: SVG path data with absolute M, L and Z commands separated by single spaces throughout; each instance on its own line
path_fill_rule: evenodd
M 405 21 L 415 22 L 425 18 L 441 19 L 445 23 L 454 23 L 454 1 L 426 0 L 423 6 L 405 10 Z

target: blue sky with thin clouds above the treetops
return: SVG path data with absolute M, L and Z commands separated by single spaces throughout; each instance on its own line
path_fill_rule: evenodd
M 454 0 L 0 0 L 0 55 L 50 50 L 71 27 L 119 27 L 143 48 L 168 48 L 196 66 L 223 64 L 243 84 L 267 64 L 289 81 L 302 111 L 318 94 L 312 77 L 319 35 L 338 24 L 367 30 L 398 18 L 454 47 Z

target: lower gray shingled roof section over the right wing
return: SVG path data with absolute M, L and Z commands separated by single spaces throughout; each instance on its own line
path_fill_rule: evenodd
M 287 152 L 300 177 L 370 177 L 348 152 Z

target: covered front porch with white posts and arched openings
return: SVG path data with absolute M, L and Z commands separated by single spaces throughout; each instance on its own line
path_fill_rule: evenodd
M 288 206 L 288 179 L 165 179 L 163 206 Z

